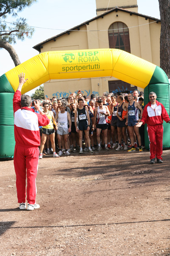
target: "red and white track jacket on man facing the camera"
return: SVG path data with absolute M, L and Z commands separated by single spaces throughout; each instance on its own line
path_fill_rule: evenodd
M 163 120 L 165 122 L 170 121 L 170 117 L 160 102 L 156 100 L 156 108 L 151 108 L 151 102 L 149 102 L 145 107 L 142 114 L 141 122 L 143 124 L 147 123 L 147 125 L 160 125 L 163 124 Z

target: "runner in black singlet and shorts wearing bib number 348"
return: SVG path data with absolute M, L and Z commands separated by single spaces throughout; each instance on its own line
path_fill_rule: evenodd
M 83 131 L 85 132 L 85 137 L 88 142 L 88 152 L 93 153 L 93 150 L 91 149 L 91 144 L 90 144 L 90 138 L 89 138 L 89 130 L 90 130 L 90 117 L 88 110 L 86 110 L 83 106 L 84 102 L 83 99 L 78 99 L 78 105 L 79 108 L 75 111 L 75 116 L 74 116 L 74 123 L 76 127 L 76 131 L 79 133 L 79 147 L 80 151 L 79 154 L 82 154 L 82 135 Z

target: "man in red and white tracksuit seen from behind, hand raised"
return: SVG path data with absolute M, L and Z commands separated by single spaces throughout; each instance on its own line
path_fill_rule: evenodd
M 39 126 L 48 125 L 50 120 L 41 112 L 39 102 L 34 102 L 40 113 L 31 108 L 32 100 L 28 95 L 21 96 L 25 74 L 19 75 L 19 86 L 14 93 L 14 168 L 16 173 L 17 198 L 20 209 L 26 209 L 26 177 L 27 177 L 27 210 L 40 208 L 36 204 L 36 176 L 38 169 L 40 131 Z

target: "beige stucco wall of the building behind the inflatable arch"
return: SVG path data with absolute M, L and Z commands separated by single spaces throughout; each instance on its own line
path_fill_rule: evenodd
M 118 17 L 116 15 L 118 15 Z M 129 13 L 121 11 L 108 13 L 108 15 L 103 16 L 103 18 L 100 17 L 97 20 L 90 22 L 89 25 L 82 26 L 80 31 L 71 31 L 70 35 L 64 34 L 59 38 L 56 38 L 56 41 L 50 41 L 43 44 L 42 52 L 109 48 L 108 29 L 114 22 L 123 22 L 129 28 L 130 49 L 133 55 L 144 58 L 159 66 L 161 24 L 156 22 L 150 23 L 153 22 L 153 20 L 145 20 L 145 17 L 129 15 Z M 82 30 L 87 31 L 81 32 Z M 52 98 L 52 96 L 55 96 L 56 94 L 59 97 L 62 93 L 63 95 L 68 95 L 68 93 L 77 90 L 85 91 L 84 94 L 88 96 L 93 92 L 95 92 L 96 95 L 102 95 L 104 91 L 108 91 L 108 81 L 113 80 L 115 80 L 113 77 L 80 80 L 53 80 L 44 84 L 44 90 L 45 95 L 49 98 Z M 138 88 L 138 90 L 143 89 Z

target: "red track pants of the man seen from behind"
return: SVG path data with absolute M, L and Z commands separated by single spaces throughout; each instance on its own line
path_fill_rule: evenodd
M 18 203 L 26 202 L 26 176 L 28 204 L 36 203 L 36 177 L 38 170 L 39 148 L 24 148 L 15 145 L 14 168 Z

